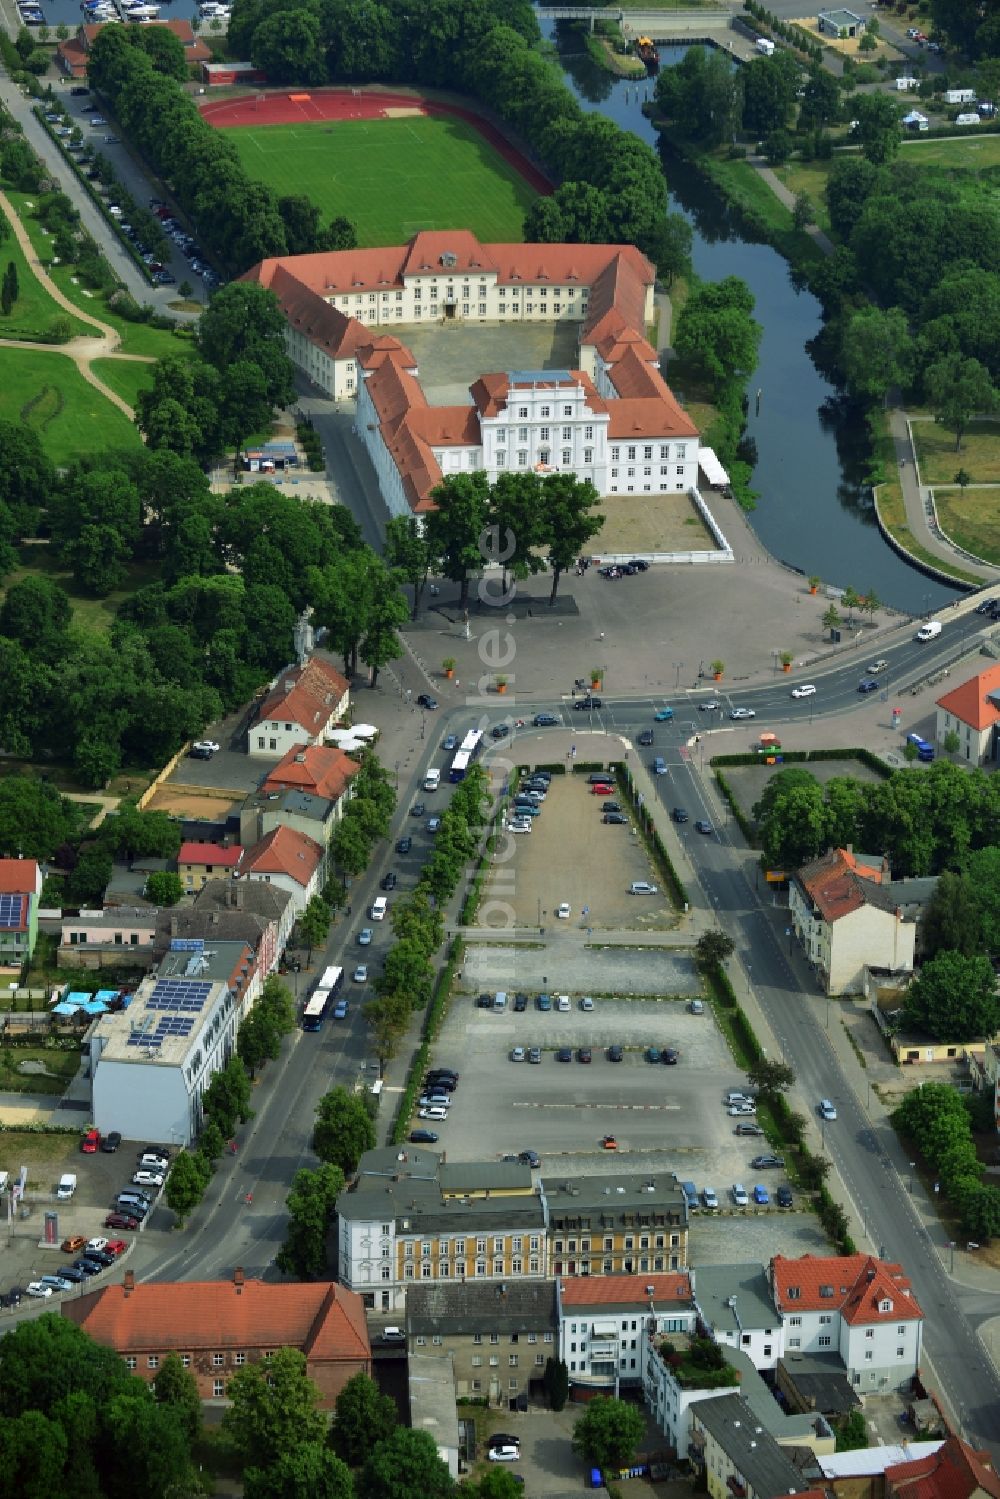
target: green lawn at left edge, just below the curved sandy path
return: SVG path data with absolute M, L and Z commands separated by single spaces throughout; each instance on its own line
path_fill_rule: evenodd
M 0 418 L 37 432 L 52 463 L 136 447 L 139 433 L 66 354 L 0 343 Z

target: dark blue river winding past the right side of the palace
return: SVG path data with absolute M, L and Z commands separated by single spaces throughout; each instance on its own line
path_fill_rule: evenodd
M 655 148 L 658 133 L 642 114 L 652 81 L 628 82 L 579 52 L 571 28 L 543 22 L 559 45 L 568 87 L 582 108 L 600 111 Z M 664 66 L 684 46 L 661 46 Z M 909 567 L 882 538 L 864 475 L 870 454 L 864 426 L 810 358 L 807 343 L 822 328 L 820 304 L 796 291 L 787 261 L 733 222 L 726 201 L 688 163 L 667 165 L 670 207 L 694 231 L 694 270 L 705 280 L 741 276 L 763 325 L 760 363 L 750 382 L 748 435 L 757 448 L 753 487 L 760 499 L 751 525 L 768 550 L 825 583 L 874 588 L 897 609 L 924 613 L 957 591 Z M 760 406 L 757 409 L 757 391 Z

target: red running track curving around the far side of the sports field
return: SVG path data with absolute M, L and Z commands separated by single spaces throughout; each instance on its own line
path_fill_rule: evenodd
M 295 93 L 303 97 L 297 99 Z M 315 120 L 385 120 L 390 109 L 417 109 L 420 114 L 454 115 L 478 130 L 484 141 L 540 193 L 550 193 L 552 183 L 505 135 L 462 105 L 421 99 L 418 94 L 382 93 L 352 88 L 309 88 L 291 93 L 247 93 L 240 99 L 219 99 L 198 106 L 217 129 L 247 124 L 307 124 Z

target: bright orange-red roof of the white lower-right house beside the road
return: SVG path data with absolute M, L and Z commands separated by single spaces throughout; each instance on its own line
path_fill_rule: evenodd
M 771 1285 L 778 1312 L 840 1310 L 846 1322 L 861 1325 L 924 1316 L 903 1265 L 874 1255 L 775 1255 Z M 886 1300 L 892 1307 L 880 1312 L 879 1301 Z

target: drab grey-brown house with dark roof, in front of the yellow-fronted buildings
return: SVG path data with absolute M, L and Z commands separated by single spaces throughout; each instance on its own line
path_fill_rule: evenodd
M 556 1327 L 552 1280 L 438 1280 L 406 1291 L 409 1355 L 451 1358 L 459 1400 L 526 1400 L 555 1354 Z

